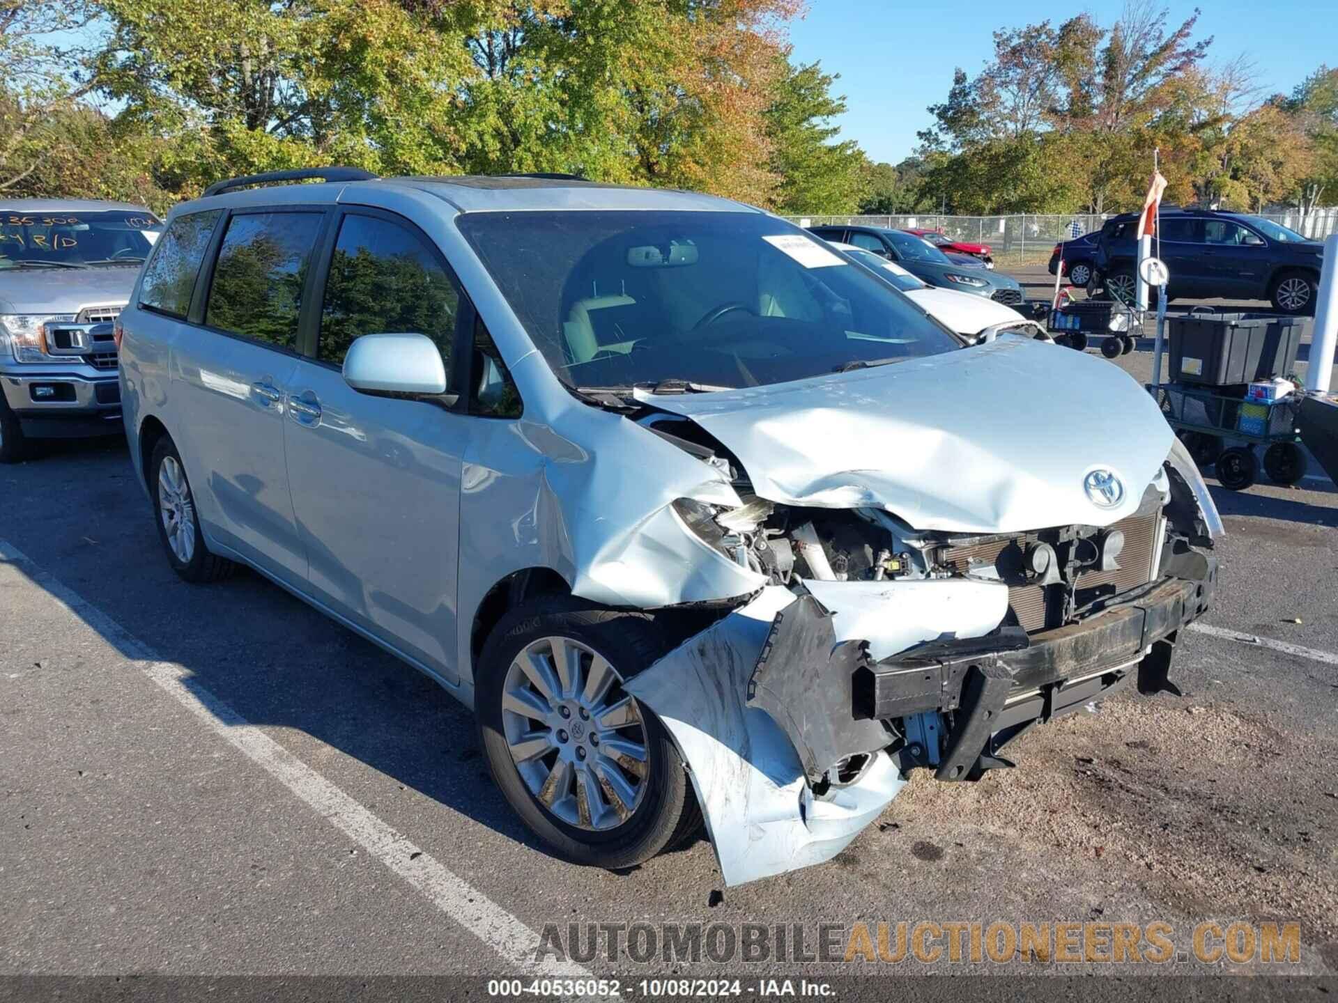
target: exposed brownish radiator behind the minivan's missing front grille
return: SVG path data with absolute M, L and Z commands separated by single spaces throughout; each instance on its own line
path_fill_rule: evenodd
M 1152 560 L 1156 556 L 1160 511 L 1156 506 L 1143 508 L 1117 522 L 1112 530 L 1124 532 L 1124 550 L 1120 552 L 1116 571 L 1080 571 L 1074 599 L 1085 606 L 1108 595 L 1119 595 L 1129 588 L 1152 580 Z M 1005 582 L 1018 582 L 1022 574 L 1022 555 L 1028 544 L 1042 539 L 1044 534 L 1025 534 L 1013 538 L 993 538 L 949 546 L 939 552 L 939 560 L 957 571 L 966 574 L 971 566 L 993 567 Z M 1028 634 L 1062 626 L 1064 592 L 1066 586 L 1038 586 L 1018 582 L 1008 590 L 1009 608 L 1018 626 Z

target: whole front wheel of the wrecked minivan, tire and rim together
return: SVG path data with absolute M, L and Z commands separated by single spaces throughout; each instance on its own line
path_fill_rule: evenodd
M 502 793 L 578 864 L 641 864 L 696 833 L 701 813 L 664 725 L 622 685 L 666 650 L 645 614 L 527 602 L 479 659 L 479 742 Z

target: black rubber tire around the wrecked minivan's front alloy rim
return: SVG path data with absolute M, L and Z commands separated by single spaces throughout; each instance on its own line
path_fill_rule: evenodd
M 625 679 L 672 646 L 649 614 L 606 610 L 566 596 L 533 599 L 506 614 L 479 658 L 475 714 L 479 745 L 507 802 L 561 857 L 589 867 L 634 867 L 693 839 L 702 820 L 688 770 L 664 725 L 640 705 L 648 764 L 642 782 L 648 786 L 630 817 L 609 829 L 582 829 L 559 818 L 531 793 L 511 757 L 502 699 L 512 659 L 547 637 L 569 638 L 598 651 Z

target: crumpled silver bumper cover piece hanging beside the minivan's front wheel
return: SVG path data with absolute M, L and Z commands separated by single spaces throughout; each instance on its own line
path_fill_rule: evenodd
M 859 782 L 815 797 L 784 732 L 747 706 L 771 623 L 792 602 L 788 588 L 768 586 L 625 685 L 688 762 L 728 885 L 831 860 L 904 786 L 880 752 Z

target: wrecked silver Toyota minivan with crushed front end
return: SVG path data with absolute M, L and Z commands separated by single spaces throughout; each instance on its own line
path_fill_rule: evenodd
M 1123 372 L 969 346 L 708 195 L 241 178 L 173 210 L 118 324 L 177 574 L 248 564 L 440 682 L 585 864 L 702 816 L 729 884 L 827 860 L 909 770 L 1156 690 L 1216 575 Z

